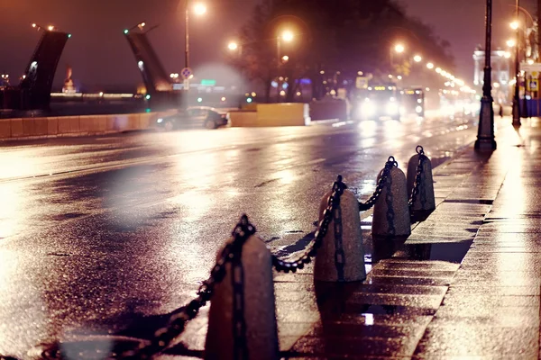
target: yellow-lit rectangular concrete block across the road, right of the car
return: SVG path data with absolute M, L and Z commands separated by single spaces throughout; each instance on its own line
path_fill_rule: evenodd
M 307 103 L 258 103 L 257 126 L 305 126 L 310 124 Z

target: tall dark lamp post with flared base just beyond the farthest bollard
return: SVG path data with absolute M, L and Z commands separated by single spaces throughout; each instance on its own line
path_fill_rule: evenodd
M 491 68 L 491 35 L 492 35 L 492 0 L 487 0 L 486 15 L 486 43 L 485 43 L 485 67 L 484 84 L 482 85 L 481 112 L 479 114 L 479 128 L 475 148 L 496 149 L 494 139 L 494 109 L 492 108 L 492 68 Z

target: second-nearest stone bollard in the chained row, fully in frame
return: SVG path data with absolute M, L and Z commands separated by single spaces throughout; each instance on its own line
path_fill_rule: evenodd
M 319 221 L 331 192 L 325 194 L 319 207 Z M 355 195 L 345 189 L 340 205 L 333 214 L 323 243 L 317 251 L 314 279 L 325 282 L 353 282 L 366 279 L 362 248 L 361 217 Z

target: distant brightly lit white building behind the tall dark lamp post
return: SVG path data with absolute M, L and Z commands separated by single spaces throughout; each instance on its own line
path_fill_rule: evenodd
M 485 51 L 478 46 L 473 51 L 473 84 L 479 86 L 482 94 L 482 85 L 484 84 L 484 62 Z M 509 85 L 511 81 L 511 54 L 502 49 L 496 49 L 491 52 L 492 67 L 492 97 L 497 103 L 509 102 L 513 86 Z

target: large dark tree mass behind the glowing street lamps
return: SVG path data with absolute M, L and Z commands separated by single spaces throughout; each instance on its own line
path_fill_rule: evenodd
M 277 36 L 283 27 L 296 32 L 287 63 L 280 62 L 277 54 Z M 271 81 L 280 76 L 289 85 L 286 100 L 292 101 L 302 77 L 312 79 L 313 93 L 319 98 L 344 80 L 351 86 L 360 70 L 389 74 L 393 70 L 390 47 L 396 40 L 406 41 L 410 52 L 422 52 L 441 66 L 453 68 L 448 42 L 437 38 L 425 23 L 408 17 L 393 0 L 265 2 L 255 7 L 252 19 L 244 24 L 241 40 L 243 58 L 236 65 L 251 80 L 265 85 L 267 102 Z M 398 65 L 408 72 L 408 61 Z

